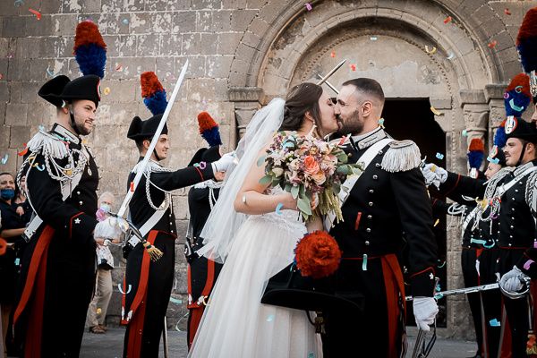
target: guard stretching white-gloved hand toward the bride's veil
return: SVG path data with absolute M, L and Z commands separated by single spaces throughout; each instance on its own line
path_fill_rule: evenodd
M 136 244 L 127 257 L 122 323 L 128 325 L 124 357 L 129 358 L 158 357 L 158 344 L 175 277 L 177 229 L 171 191 L 213 179 L 218 171 L 226 171 L 233 162 L 232 156 L 225 155 L 212 164 L 200 162 L 179 170 L 161 166 L 159 162 L 166 159 L 170 148 L 166 124 L 154 151 L 147 153 L 167 106 L 166 91 L 154 72 L 141 74 L 141 94 L 153 116 L 146 121 L 136 116 L 129 127 L 127 137 L 136 142 L 140 152 L 139 162 L 129 175 L 129 188 L 136 173 L 142 170 L 142 159 L 149 155 L 150 160 L 143 168 L 129 210 L 132 223 L 148 244 Z M 155 248 L 163 256 L 159 260 L 150 260 L 149 251 Z

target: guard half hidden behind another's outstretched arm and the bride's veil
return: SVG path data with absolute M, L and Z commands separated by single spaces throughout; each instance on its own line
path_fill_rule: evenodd
M 193 166 L 200 161 L 206 163 L 216 162 L 220 156 L 220 132 L 218 124 L 207 112 L 198 115 L 198 124 L 201 137 L 209 143 L 209 148 L 199 149 L 192 158 L 188 166 Z M 205 256 L 195 253 L 203 246 L 203 238 L 200 237 L 201 230 L 210 211 L 218 200 L 218 194 L 223 182 L 207 180 L 192 186 L 188 192 L 188 209 L 190 221 L 187 230 L 185 255 L 188 261 L 188 326 L 187 345 L 190 349 L 196 331 L 200 325 L 201 316 L 205 306 L 209 302 L 209 295 L 217 281 L 222 264 L 214 260 L 208 260 Z

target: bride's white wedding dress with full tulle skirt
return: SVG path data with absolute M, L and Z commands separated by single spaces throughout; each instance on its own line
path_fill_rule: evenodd
M 305 311 L 260 303 L 268 278 L 294 260 L 296 242 L 305 233 L 294 210 L 248 217 L 234 238 L 189 357 L 322 355 L 320 336 Z

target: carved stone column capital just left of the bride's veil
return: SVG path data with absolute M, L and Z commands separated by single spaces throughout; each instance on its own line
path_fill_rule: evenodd
M 228 95 L 229 101 L 234 102 L 238 134 L 236 141 L 238 142 L 243 138 L 246 126 L 250 123 L 251 117 L 260 109 L 263 90 L 259 87 L 232 87 L 229 89 Z

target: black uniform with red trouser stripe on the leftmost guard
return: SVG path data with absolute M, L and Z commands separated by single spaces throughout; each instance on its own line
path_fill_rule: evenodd
M 81 144 L 71 141 L 69 147 L 81 149 Z M 98 167 L 90 156 L 80 183 L 64 201 L 44 160 L 38 154 L 26 178 L 28 198 L 44 223 L 24 251 L 15 340 L 25 357 L 78 357 L 95 286 Z M 56 161 L 66 165 L 66 159 Z M 26 173 L 28 166 L 21 170 Z

